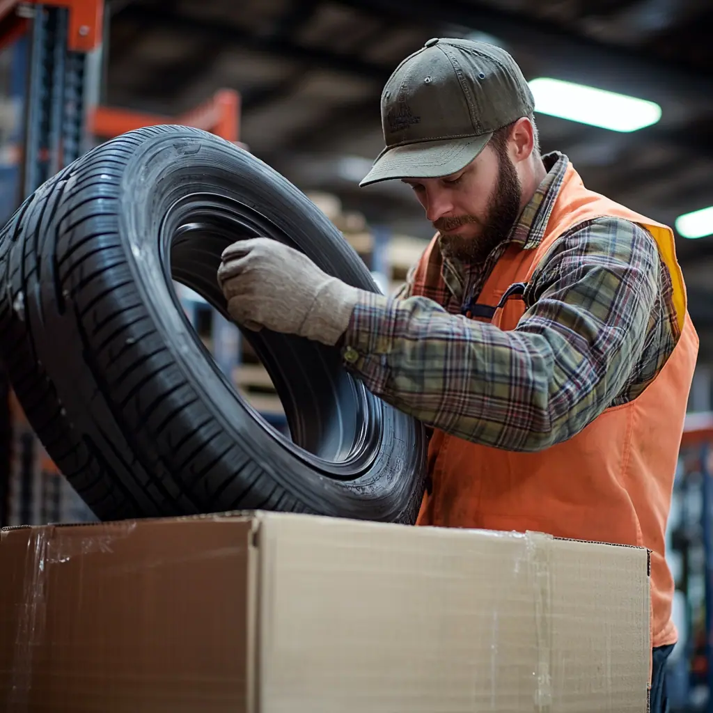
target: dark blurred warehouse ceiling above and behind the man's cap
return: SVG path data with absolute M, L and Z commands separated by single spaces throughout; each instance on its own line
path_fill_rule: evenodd
M 548 76 L 657 102 L 618 133 L 536 114 L 543 150 L 589 188 L 672 225 L 713 205 L 713 3 L 701 0 L 115 0 L 104 103 L 175 115 L 242 93 L 241 139 L 302 190 L 398 232 L 432 229 L 408 188 L 359 189 L 382 148 L 381 88 L 433 36 L 506 48 Z M 713 237 L 678 238 L 694 321 L 713 335 Z M 713 361 L 713 339 L 704 334 Z

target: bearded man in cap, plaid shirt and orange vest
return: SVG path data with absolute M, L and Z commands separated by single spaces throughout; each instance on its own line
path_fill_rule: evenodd
M 434 427 L 419 524 L 540 530 L 652 551 L 651 710 L 677 632 L 665 527 L 697 356 L 670 228 L 540 156 L 505 51 L 433 39 L 381 97 L 386 148 L 436 237 L 397 297 L 277 242 L 219 279 L 236 322 L 339 344 L 374 394 Z

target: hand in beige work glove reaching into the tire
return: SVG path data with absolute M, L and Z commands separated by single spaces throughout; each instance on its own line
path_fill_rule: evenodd
M 359 289 L 331 277 L 307 255 L 267 237 L 238 240 L 222 253 L 218 284 L 242 327 L 298 334 L 333 346 L 349 326 Z

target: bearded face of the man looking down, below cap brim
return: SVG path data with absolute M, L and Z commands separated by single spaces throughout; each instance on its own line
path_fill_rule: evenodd
M 506 150 L 487 145 L 458 173 L 404 180 L 441 233 L 441 249 L 463 262 L 483 262 L 520 214 L 520 180 Z

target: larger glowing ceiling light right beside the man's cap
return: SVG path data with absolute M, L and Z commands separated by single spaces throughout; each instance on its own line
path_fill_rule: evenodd
M 535 111 L 612 131 L 636 131 L 655 124 L 661 107 L 645 99 L 538 77 L 529 82 Z

